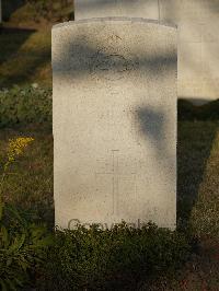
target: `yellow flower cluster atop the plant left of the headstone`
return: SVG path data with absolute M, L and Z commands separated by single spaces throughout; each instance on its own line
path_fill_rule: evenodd
M 27 144 L 33 140 L 33 138 L 10 139 L 8 146 L 8 161 L 13 162 L 14 158 L 21 155 Z

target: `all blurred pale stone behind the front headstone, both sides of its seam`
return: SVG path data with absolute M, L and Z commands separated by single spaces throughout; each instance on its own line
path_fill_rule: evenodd
M 178 98 L 219 98 L 218 0 L 74 0 L 76 20 L 139 16 L 178 26 Z

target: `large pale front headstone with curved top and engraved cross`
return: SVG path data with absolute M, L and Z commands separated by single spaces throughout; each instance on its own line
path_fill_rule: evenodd
M 176 40 L 142 19 L 54 26 L 57 225 L 175 228 Z

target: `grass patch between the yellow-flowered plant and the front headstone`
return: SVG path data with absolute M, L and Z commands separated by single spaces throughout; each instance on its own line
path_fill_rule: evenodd
M 16 137 L 33 137 L 34 142 L 11 167 L 4 184 L 4 199 L 19 208 L 34 211 L 54 226 L 53 135 L 42 128 L 1 129 L 1 171 L 8 141 Z

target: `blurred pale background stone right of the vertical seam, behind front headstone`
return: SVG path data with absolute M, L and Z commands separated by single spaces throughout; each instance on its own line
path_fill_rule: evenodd
M 219 98 L 219 1 L 162 0 L 160 14 L 178 26 L 178 97 Z

